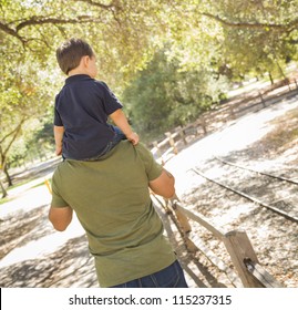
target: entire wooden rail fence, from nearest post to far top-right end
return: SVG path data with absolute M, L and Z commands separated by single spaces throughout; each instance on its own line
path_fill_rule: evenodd
M 281 81 L 276 85 L 258 92 L 257 95 L 239 100 L 234 103 L 226 103 L 214 111 L 203 114 L 196 122 L 185 126 L 175 128 L 174 133 L 165 133 L 166 138 L 162 142 L 154 142 L 152 153 L 155 158 L 158 158 L 162 164 L 165 164 L 168 154 L 178 154 L 178 143 L 182 147 L 188 144 L 187 135 L 191 133 L 196 138 L 203 137 L 214 130 L 227 124 L 248 112 L 256 112 L 285 99 L 294 97 L 298 94 L 298 84 L 294 80 Z M 153 195 L 154 196 L 154 195 Z M 192 251 L 201 250 L 208 259 L 216 265 L 220 270 L 227 273 L 234 286 L 238 287 L 239 281 L 235 278 L 235 273 L 223 261 L 215 257 L 215 255 L 206 248 L 204 242 L 196 238 L 195 241 L 189 240 L 188 232 L 192 227 L 189 219 L 198 223 L 213 234 L 213 237 L 218 239 L 225 245 L 225 248 L 230 257 L 230 260 L 240 279 L 240 286 L 247 288 L 282 288 L 284 286 L 278 282 L 270 273 L 268 273 L 259 264 L 257 255 L 251 246 L 251 242 L 245 231 L 228 231 L 224 232 L 222 229 L 210 225 L 207 219 L 202 215 L 194 214 L 182 206 L 181 202 L 175 197 L 168 204 L 165 204 L 156 197 L 155 200 L 175 214 L 179 227 L 183 231 L 184 241 L 186 247 Z M 155 203 L 156 203 L 155 202 Z M 171 205 L 171 207 L 169 207 Z M 198 244 L 198 245 L 197 245 Z

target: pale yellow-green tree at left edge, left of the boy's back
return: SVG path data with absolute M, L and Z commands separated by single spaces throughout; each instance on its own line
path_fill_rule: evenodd
M 23 54 L 22 56 L 25 56 Z M 0 82 L 0 166 L 7 175 L 8 185 L 12 185 L 8 173 L 8 156 L 13 143 L 27 133 L 32 134 L 30 123 L 48 110 L 51 97 L 51 80 L 45 78 L 38 64 L 30 65 L 11 59 L 10 70 L 3 68 Z M 1 63 L 1 66 L 6 66 Z M 2 68 L 1 68 L 2 69 Z

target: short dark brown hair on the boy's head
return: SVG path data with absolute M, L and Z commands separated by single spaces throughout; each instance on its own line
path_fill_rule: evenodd
M 80 64 L 82 56 L 92 58 L 94 53 L 85 41 L 72 38 L 56 49 L 55 56 L 61 70 L 69 74 Z

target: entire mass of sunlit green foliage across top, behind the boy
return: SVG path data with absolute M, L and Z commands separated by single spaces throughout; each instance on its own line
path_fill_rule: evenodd
M 297 9 L 297 0 L 0 0 L 2 165 L 13 143 L 27 151 L 34 141 L 51 144 L 39 134 L 63 83 L 54 51 L 65 39 L 88 40 L 99 79 L 116 93 L 127 86 L 135 126 L 160 133 L 217 102 L 223 76 L 282 78 L 298 56 Z

